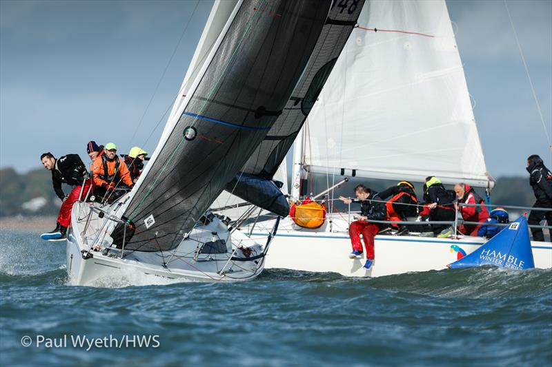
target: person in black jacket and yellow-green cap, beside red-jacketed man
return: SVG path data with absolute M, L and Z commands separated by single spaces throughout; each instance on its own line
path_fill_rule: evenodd
M 426 204 L 420 216 L 428 217 L 429 220 L 454 222 L 456 211 L 453 207 L 453 196 L 453 193 L 444 188 L 441 180 L 435 176 L 429 176 L 424 184 Z M 448 237 L 452 234 L 450 224 L 431 224 L 431 230 L 440 237 Z

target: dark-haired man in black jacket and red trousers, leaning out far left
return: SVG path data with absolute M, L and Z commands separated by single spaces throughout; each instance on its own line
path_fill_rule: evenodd
M 56 159 L 48 151 L 48 153 L 40 156 L 40 160 L 44 168 L 52 171 L 54 191 L 63 202 L 57 216 L 56 228 L 48 233 L 43 233 L 43 235 L 48 235 L 51 239 L 65 240 L 67 228 L 71 224 L 71 209 L 75 202 L 79 200 L 79 196 L 81 200 L 86 197 L 88 189 L 92 185 L 92 180 L 90 180 L 86 166 L 78 154 L 68 154 Z M 82 187 L 83 182 L 84 187 Z M 63 189 L 61 189 L 62 183 L 73 187 L 67 196 L 63 193 Z

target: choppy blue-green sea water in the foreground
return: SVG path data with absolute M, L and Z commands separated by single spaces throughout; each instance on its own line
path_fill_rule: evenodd
M 65 251 L 0 232 L 1 366 L 552 364 L 551 270 L 83 287 L 67 284 Z

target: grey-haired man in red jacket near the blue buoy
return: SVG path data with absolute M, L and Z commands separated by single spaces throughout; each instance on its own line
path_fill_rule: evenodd
M 454 191 L 458 198 L 458 202 L 463 202 L 465 204 L 484 204 L 484 200 L 475 193 L 473 187 L 466 185 L 464 182 L 460 182 L 455 185 Z M 462 213 L 462 218 L 466 222 L 485 222 L 489 219 L 489 211 L 486 207 L 464 207 L 458 206 L 458 211 Z M 464 235 L 475 235 L 477 236 L 477 230 L 480 229 L 480 225 L 477 224 L 462 224 L 458 229 L 460 233 Z

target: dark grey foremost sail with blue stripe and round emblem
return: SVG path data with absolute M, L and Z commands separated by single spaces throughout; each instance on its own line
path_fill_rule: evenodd
M 126 249 L 177 247 L 282 114 L 329 9 L 329 0 L 237 4 L 131 193 Z

